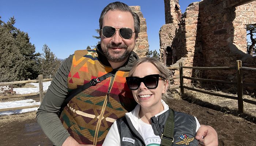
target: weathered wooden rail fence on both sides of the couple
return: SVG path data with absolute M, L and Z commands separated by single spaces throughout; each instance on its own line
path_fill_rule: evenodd
M 180 63 L 177 67 L 169 67 L 168 69 L 179 69 L 180 70 L 180 76 L 172 77 L 170 80 L 173 79 L 180 79 L 180 85 L 169 87 L 169 89 L 178 89 L 180 88 L 181 95 L 184 94 L 184 88 L 192 91 L 197 91 L 209 95 L 219 96 L 219 97 L 225 97 L 229 99 L 238 100 L 238 111 L 244 112 L 244 103 L 251 103 L 256 105 L 256 101 L 243 99 L 243 86 L 249 86 L 249 87 L 256 87 L 256 84 L 247 84 L 242 82 L 242 71 L 243 70 L 252 70 L 256 71 L 256 68 L 249 68 L 249 67 L 242 67 L 242 61 L 237 61 L 237 66 L 232 67 L 190 67 L 190 66 L 182 66 Z M 237 73 L 237 81 L 223 81 L 223 80 L 211 80 L 211 79 L 203 79 L 203 78 L 194 78 L 194 77 L 186 77 L 183 76 L 183 69 L 199 69 L 199 70 L 236 70 Z M 184 78 L 189 80 L 195 80 L 195 81 L 207 81 L 207 82 L 217 82 L 217 83 L 223 83 L 223 84 L 234 84 L 237 85 L 237 97 L 236 96 L 229 96 L 229 95 L 221 95 L 218 93 L 212 93 L 208 91 L 203 91 L 200 89 L 194 89 L 183 85 Z M 0 85 L 13 85 L 13 84 L 25 84 L 30 82 L 38 82 L 39 83 L 39 93 L 30 93 L 25 95 L 12 95 L 12 96 L 0 96 L 0 99 L 9 99 L 9 98 L 16 98 L 16 97 L 26 97 L 26 96 L 33 96 L 38 95 L 40 97 L 40 102 L 43 99 L 44 93 L 43 93 L 43 81 L 52 81 L 52 78 L 49 79 L 43 79 L 42 75 L 38 76 L 38 80 L 27 80 L 27 81 L 14 81 L 14 82 L 1 82 Z M 10 110 L 20 110 L 25 108 L 33 108 L 38 107 L 38 105 L 31 105 L 26 107 L 17 107 L 17 108 L 4 108 L 0 109 L 0 111 L 10 111 Z

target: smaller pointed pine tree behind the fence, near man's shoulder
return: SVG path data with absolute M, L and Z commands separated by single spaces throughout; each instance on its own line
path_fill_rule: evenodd
M 40 74 L 43 77 L 53 77 L 57 73 L 57 70 L 60 66 L 60 61 L 57 57 L 50 51 L 50 48 L 44 44 L 43 49 L 44 53 L 41 54 L 39 58 L 40 62 Z

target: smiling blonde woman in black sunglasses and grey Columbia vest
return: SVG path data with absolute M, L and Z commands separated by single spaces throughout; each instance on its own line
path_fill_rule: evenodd
M 200 124 L 194 116 L 175 111 L 174 118 L 167 120 L 173 114 L 162 100 L 167 96 L 168 79 L 169 69 L 156 58 L 140 58 L 133 64 L 126 80 L 138 105 L 113 123 L 103 146 L 160 146 L 165 123 L 173 119 L 174 135 L 164 137 L 171 142 L 174 138 L 173 146 L 198 145 L 195 136 Z

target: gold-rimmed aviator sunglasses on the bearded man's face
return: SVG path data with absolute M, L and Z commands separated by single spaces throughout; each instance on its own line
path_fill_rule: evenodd
M 116 34 L 116 31 L 119 31 L 119 35 L 122 38 L 124 38 L 124 39 L 131 39 L 133 33 L 135 33 L 135 32 L 132 32 L 131 28 L 123 27 L 123 28 L 119 28 L 118 29 L 118 28 L 114 28 L 112 26 L 104 26 L 101 29 L 101 31 L 102 31 L 102 35 L 105 38 L 111 38 L 111 37 L 113 37 Z

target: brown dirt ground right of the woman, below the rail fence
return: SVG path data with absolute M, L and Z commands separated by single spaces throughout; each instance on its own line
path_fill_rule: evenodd
M 196 116 L 200 124 L 212 126 L 218 133 L 219 146 L 256 146 L 255 123 L 185 100 L 172 100 L 167 104 L 176 111 Z

